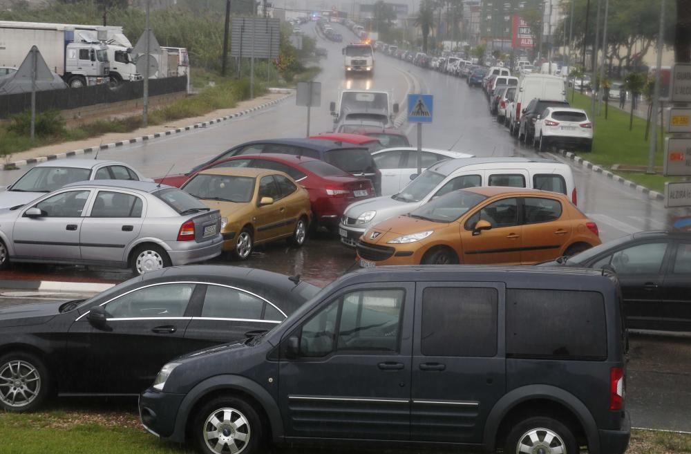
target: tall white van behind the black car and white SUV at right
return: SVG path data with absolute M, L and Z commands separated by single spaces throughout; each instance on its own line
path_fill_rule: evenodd
M 527 74 L 518 81 L 518 92 L 509 115 L 509 131 L 518 136 L 520 115 L 534 98 L 541 100 L 566 101 L 566 83 L 564 79 L 548 74 Z

